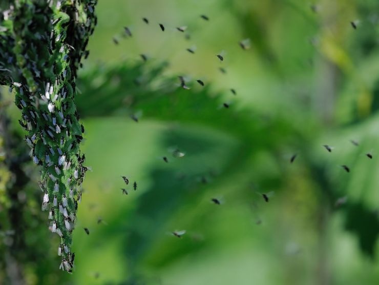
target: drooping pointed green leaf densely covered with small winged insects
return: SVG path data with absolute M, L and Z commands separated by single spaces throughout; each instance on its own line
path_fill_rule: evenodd
M 2 4 L 4 6 L 4 4 Z M 10 1 L 0 5 L 0 84 L 15 93 L 49 229 L 59 235 L 60 269 L 72 272 L 72 231 L 87 168 L 84 128 L 74 103 L 75 78 L 96 25 L 96 0 Z M 2 9 L 3 8 L 3 9 Z M 2 9 L 2 10 L 1 10 Z

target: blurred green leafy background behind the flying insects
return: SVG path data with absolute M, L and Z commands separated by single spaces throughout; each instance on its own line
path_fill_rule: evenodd
M 376 284 L 379 3 L 312 5 L 100 2 L 77 84 L 93 171 L 73 236 L 75 272 L 45 275 L 56 253 L 43 226 L 38 246 L 49 254 L 25 263 L 28 282 Z

